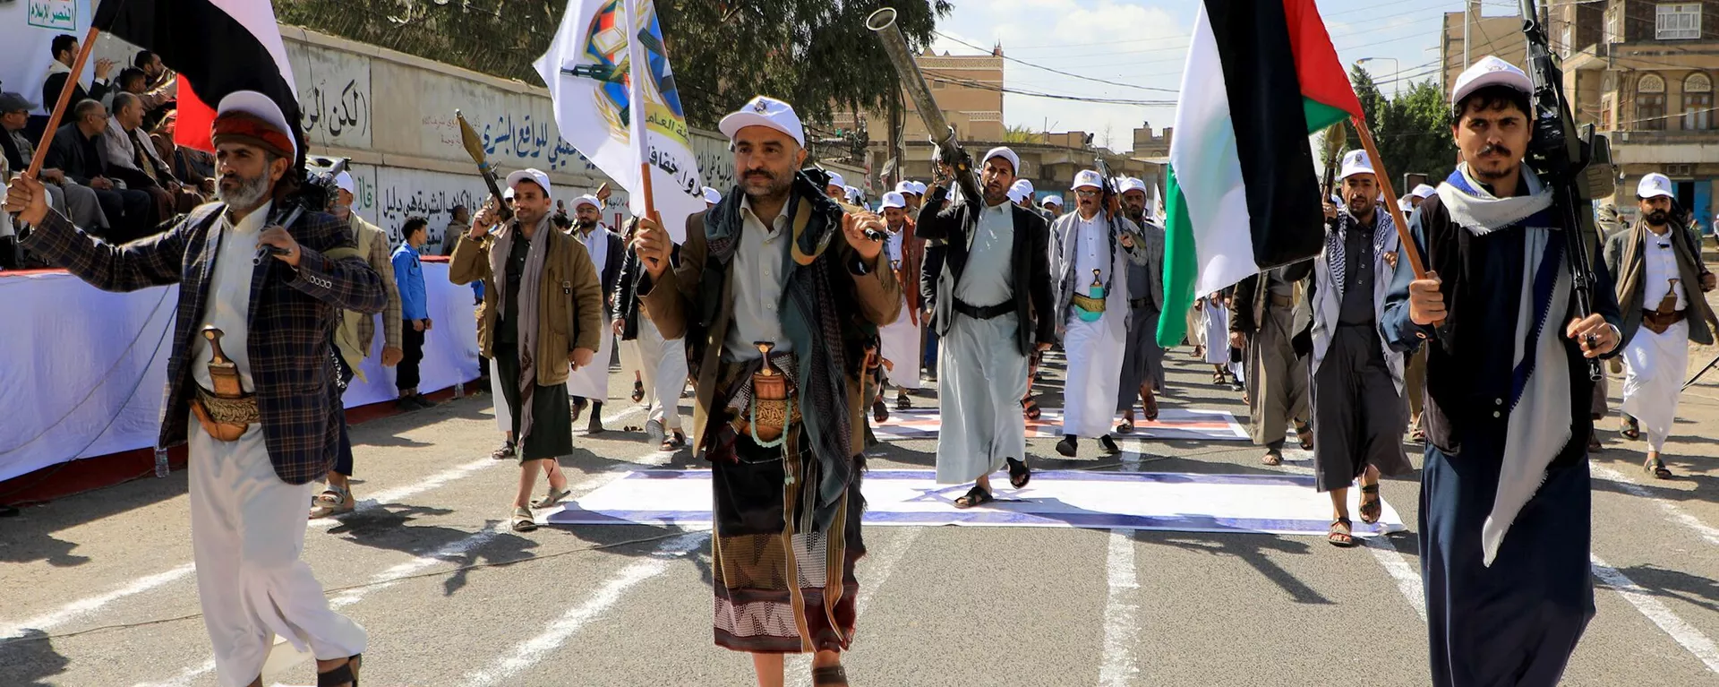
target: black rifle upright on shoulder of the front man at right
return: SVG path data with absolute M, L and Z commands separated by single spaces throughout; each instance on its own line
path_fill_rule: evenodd
M 1611 179 L 1606 169 L 1611 162 L 1611 146 L 1606 136 L 1594 133 L 1594 124 L 1576 129 L 1569 115 L 1569 100 L 1564 98 L 1564 72 L 1552 57 L 1537 0 L 1521 0 L 1521 33 L 1528 43 L 1528 77 L 1533 81 L 1530 114 L 1533 139 L 1528 143 L 1525 162 L 1552 189 L 1552 208 L 1563 219 L 1561 227 L 1568 244 L 1564 253 L 1575 275 L 1576 317 L 1587 319 L 1594 312 L 1594 265 L 1588 262 L 1588 241 L 1595 236 L 1595 229 L 1594 212 L 1576 212 L 1576 207 L 1592 208 L 1595 191 L 1602 191 Z M 1600 381 L 1599 358 L 1588 358 L 1588 379 Z

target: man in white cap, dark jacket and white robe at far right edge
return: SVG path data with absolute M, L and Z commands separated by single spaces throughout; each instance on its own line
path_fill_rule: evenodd
M 1710 346 L 1719 327 L 1702 296 L 1714 289 L 1714 274 L 1702 263 L 1697 234 L 1671 217 L 1667 176 L 1642 177 L 1635 198 L 1640 207 L 1635 227 L 1606 241 L 1606 269 L 1618 275 L 1623 336 L 1630 341 L 1623 351 L 1623 434 L 1630 439 L 1645 434 L 1643 468 L 1671 479 L 1659 453 L 1678 417 L 1690 343 Z

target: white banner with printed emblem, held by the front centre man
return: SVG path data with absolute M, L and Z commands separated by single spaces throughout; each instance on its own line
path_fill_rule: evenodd
M 633 5 L 631 22 L 627 5 Z M 629 31 L 631 26 L 643 31 Z M 639 62 L 648 69 L 639 69 L 629 53 L 643 55 Z M 682 241 L 686 217 L 705 210 L 703 183 L 652 2 L 571 0 L 555 40 L 535 67 L 548 84 L 560 136 L 631 191 L 634 215 L 645 214 L 639 165 L 650 164 L 655 210 L 670 236 Z M 631 110 L 629 71 L 650 74 L 639 84 L 641 117 Z M 643 146 L 633 139 L 634 121 L 645 129 Z M 641 148 L 648 153 L 641 155 Z

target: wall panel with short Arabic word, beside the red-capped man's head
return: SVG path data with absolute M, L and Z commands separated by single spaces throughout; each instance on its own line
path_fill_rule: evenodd
M 304 136 L 315 145 L 370 148 L 370 59 L 292 43 L 287 60 L 299 83 Z

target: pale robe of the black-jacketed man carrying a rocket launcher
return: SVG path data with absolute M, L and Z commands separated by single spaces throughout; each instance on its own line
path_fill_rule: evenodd
M 982 210 L 954 298 L 973 306 L 1014 298 L 1012 258 L 1011 203 Z M 937 482 L 968 484 L 1002 470 L 1004 458 L 1026 460 L 1026 355 L 1014 339 L 1021 324 L 1012 312 L 988 320 L 952 315 L 937 346 Z

